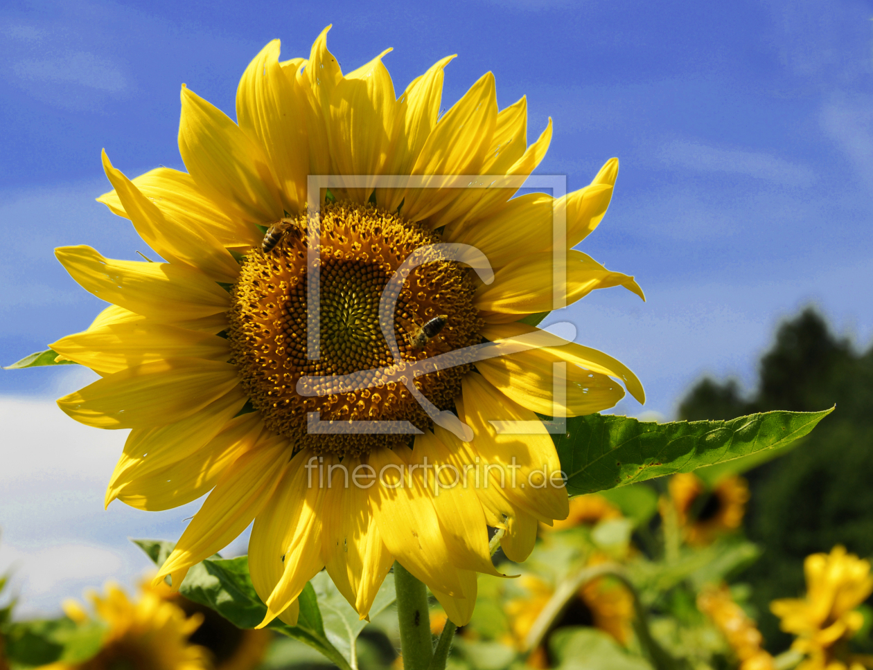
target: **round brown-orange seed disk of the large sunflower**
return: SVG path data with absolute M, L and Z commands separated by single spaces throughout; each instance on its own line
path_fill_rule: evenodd
M 357 434 L 349 421 L 406 420 L 430 427 L 409 390 L 391 375 L 361 374 L 361 385 L 336 391 L 331 379 L 361 371 L 406 366 L 481 341 L 482 321 L 472 304 L 469 270 L 448 261 L 419 265 L 402 285 L 394 313 L 400 359 L 391 355 L 379 324 L 382 291 L 409 254 L 440 237 L 423 225 L 371 206 L 328 203 L 320 212 L 320 239 L 306 238 L 306 216 L 264 254 L 251 250 L 233 289 L 230 338 L 234 362 L 251 404 L 267 427 L 295 448 L 340 455 L 366 453 L 409 440 L 403 434 Z M 296 233 L 296 234 L 295 234 Z M 306 358 L 306 249 L 319 250 L 320 359 Z M 413 337 L 422 325 L 445 315 L 446 324 L 423 346 Z M 415 378 L 416 388 L 440 409 L 453 407 L 469 365 Z M 301 377 L 325 378 L 325 390 L 301 395 Z M 354 386 L 354 385 L 353 385 Z M 340 433 L 310 434 L 307 415 L 320 413 Z

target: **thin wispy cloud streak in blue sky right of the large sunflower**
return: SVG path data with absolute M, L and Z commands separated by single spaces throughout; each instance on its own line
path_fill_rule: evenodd
M 805 165 L 745 149 L 723 149 L 698 142 L 676 140 L 663 145 L 659 157 L 665 165 L 672 167 L 701 172 L 745 174 L 787 186 L 808 186 L 815 181 L 815 172 Z

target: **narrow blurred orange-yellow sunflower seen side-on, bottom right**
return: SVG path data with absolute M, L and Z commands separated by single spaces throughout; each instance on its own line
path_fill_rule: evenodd
M 734 602 L 726 585 L 710 587 L 698 595 L 698 609 L 725 636 L 739 659 L 739 670 L 774 670 L 773 657 L 761 648 L 764 638 L 743 608 Z

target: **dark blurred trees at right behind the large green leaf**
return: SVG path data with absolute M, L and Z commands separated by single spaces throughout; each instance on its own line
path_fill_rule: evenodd
M 746 532 L 763 549 L 746 579 L 772 651 L 791 639 L 768 604 L 803 591 L 805 557 L 835 544 L 873 554 L 873 348 L 856 352 L 807 310 L 780 327 L 751 395 L 735 381 L 704 379 L 679 407 L 682 419 L 727 420 L 834 404 L 836 411 L 791 453 L 746 474 L 752 490 Z

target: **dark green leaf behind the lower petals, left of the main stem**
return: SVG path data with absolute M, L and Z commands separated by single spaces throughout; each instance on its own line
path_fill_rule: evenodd
M 173 550 L 173 544 L 163 540 L 134 540 L 134 544 L 158 565 Z M 246 556 L 212 557 L 192 566 L 179 586 L 179 592 L 185 598 L 215 610 L 239 628 L 258 626 L 267 613 L 264 601 L 251 584 L 249 558 Z M 267 627 L 313 647 L 341 670 L 350 670 L 347 657 L 331 644 L 325 632 L 312 584 L 307 584 L 300 594 L 299 604 L 297 626 L 273 619 Z

